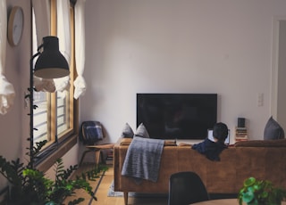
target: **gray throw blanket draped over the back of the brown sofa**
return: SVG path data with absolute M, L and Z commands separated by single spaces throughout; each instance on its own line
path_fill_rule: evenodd
M 122 167 L 122 176 L 130 176 L 137 184 L 142 179 L 156 182 L 159 175 L 164 140 L 134 136 Z

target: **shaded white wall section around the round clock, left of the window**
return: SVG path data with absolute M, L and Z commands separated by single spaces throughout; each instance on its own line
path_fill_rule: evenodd
M 29 147 L 26 139 L 29 137 L 29 109 L 24 109 L 24 92 L 29 86 L 29 53 L 30 53 L 30 9 L 29 0 L 7 0 L 7 10 L 10 13 L 12 6 L 20 5 L 24 11 L 24 28 L 20 44 L 6 47 L 5 77 L 13 84 L 15 100 L 12 109 L 5 115 L 0 115 L 1 143 L 0 155 L 8 160 L 24 159 Z M 29 159 L 27 159 L 29 160 Z M 5 181 L 0 176 L 0 190 Z

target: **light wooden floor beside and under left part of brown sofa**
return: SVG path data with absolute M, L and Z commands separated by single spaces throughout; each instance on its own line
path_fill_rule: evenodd
M 84 168 L 84 165 L 83 165 Z M 80 171 L 80 169 L 78 170 Z M 85 201 L 81 202 L 80 205 L 124 205 L 123 197 L 108 197 L 107 193 L 109 191 L 109 187 L 114 180 L 114 168 L 110 167 L 105 172 L 105 175 L 97 179 L 96 182 L 91 182 L 90 184 L 93 186 L 94 190 L 97 187 L 96 197 L 97 201 L 90 201 L 90 196 L 84 191 L 77 191 L 77 197 L 85 198 Z M 128 205 L 166 205 L 168 204 L 168 200 L 166 197 L 129 197 Z

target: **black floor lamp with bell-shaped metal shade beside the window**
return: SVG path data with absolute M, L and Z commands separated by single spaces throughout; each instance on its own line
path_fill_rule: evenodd
M 33 60 L 38 56 L 38 60 L 33 69 Z M 70 75 L 69 64 L 59 51 L 58 37 L 43 37 L 43 44 L 38 46 L 38 53 L 34 54 L 29 60 L 29 157 L 30 167 L 34 167 L 34 80 L 35 75 L 38 78 L 63 78 Z

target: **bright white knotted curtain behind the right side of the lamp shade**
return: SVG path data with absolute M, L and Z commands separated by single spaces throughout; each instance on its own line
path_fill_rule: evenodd
M 59 38 L 60 51 L 69 65 L 71 62 L 71 21 L 70 0 L 56 1 L 57 7 L 57 37 Z M 70 89 L 70 77 L 55 78 L 55 90 L 63 92 Z M 64 94 L 62 94 L 64 95 Z

